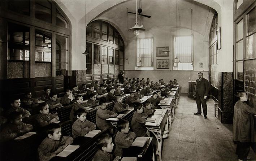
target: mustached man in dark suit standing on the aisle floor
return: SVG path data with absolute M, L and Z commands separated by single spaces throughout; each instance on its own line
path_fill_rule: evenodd
M 195 115 L 201 114 L 201 104 L 203 106 L 204 118 L 207 118 L 207 104 L 206 98 L 209 93 L 209 82 L 207 79 L 203 78 L 203 73 L 198 73 L 198 78 L 196 79 L 196 84 L 194 87 L 193 96 L 196 98 L 196 105 L 198 106 L 198 112 Z

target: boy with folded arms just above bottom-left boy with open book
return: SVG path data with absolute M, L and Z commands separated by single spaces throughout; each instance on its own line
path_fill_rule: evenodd
M 49 123 L 55 123 L 58 121 L 58 116 L 49 113 L 49 106 L 47 103 L 41 103 L 38 105 L 40 114 L 35 118 L 40 127 L 49 125 Z

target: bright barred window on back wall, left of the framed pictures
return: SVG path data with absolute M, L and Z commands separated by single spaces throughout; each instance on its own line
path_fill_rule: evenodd
M 153 67 L 153 38 L 137 39 L 137 62 L 142 67 Z

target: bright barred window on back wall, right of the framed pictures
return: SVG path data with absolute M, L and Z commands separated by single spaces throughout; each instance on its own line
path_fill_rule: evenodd
M 174 37 L 174 70 L 193 70 L 192 35 Z

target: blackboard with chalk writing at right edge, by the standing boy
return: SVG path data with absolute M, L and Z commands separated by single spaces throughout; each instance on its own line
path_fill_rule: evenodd
M 247 93 L 247 104 L 256 107 L 256 59 L 244 61 L 244 90 Z

